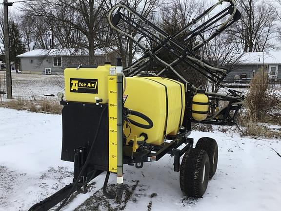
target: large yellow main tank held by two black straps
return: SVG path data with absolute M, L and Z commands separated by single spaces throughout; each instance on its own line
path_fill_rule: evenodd
M 161 77 L 132 77 L 126 78 L 126 82 L 124 94 L 127 99 L 124 106 L 143 113 L 153 122 L 150 129 L 129 124 L 130 129 L 124 125 L 127 141 L 144 132 L 148 135 L 147 143 L 161 145 L 165 135 L 176 135 L 181 127 L 185 108 L 184 85 Z M 147 124 L 139 117 L 129 118 Z

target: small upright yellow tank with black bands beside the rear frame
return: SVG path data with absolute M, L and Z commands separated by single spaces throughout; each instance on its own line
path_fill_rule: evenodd
M 205 120 L 208 116 L 209 99 L 205 90 L 198 89 L 192 98 L 192 117 L 197 121 Z

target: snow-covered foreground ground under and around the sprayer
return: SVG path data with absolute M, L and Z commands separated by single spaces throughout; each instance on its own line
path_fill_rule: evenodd
M 90 192 L 79 194 L 63 211 L 280 211 L 281 141 L 241 138 L 237 133 L 194 131 L 215 138 L 216 174 L 202 199 L 186 199 L 173 158 L 125 166 L 128 197 L 120 206 L 104 199 L 101 174 Z M 61 116 L 0 108 L 0 211 L 26 211 L 72 180 L 73 163 L 60 161 Z M 111 175 L 109 183 L 115 183 Z M 99 207 L 93 205 L 100 204 Z

